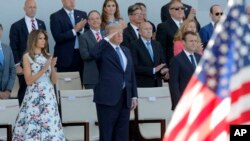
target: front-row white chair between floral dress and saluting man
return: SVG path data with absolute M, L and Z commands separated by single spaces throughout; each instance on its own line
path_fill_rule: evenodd
M 96 125 L 97 113 L 93 102 L 93 90 L 60 90 L 62 124 L 67 140 L 99 140 Z M 84 123 L 86 128 L 70 127 L 70 123 Z M 89 132 L 89 133 L 88 133 Z M 84 134 L 83 134 L 84 133 Z

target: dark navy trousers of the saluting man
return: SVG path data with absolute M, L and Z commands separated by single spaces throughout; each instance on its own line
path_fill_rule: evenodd
M 100 141 L 128 141 L 130 108 L 126 90 L 114 106 L 96 104 Z

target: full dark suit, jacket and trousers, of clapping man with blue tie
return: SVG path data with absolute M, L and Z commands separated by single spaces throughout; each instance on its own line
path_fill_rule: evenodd
M 75 24 L 81 19 L 87 19 L 84 11 L 74 10 Z M 54 56 L 57 57 L 57 71 L 79 71 L 82 78 L 83 61 L 78 49 L 74 49 L 76 36 L 72 29 L 69 15 L 62 8 L 50 16 L 50 29 L 55 40 Z M 80 32 L 76 33 L 77 36 Z

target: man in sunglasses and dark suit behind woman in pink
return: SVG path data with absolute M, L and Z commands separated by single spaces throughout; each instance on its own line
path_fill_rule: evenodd
M 157 26 L 156 40 L 161 43 L 163 53 L 166 55 L 166 62 L 169 65 L 170 59 L 174 56 L 173 40 L 174 35 L 180 28 L 184 17 L 183 4 L 179 1 L 172 1 L 169 5 L 171 18 Z

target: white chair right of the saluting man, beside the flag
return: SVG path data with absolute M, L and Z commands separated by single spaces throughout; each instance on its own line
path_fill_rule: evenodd
M 139 140 L 162 140 L 171 119 L 168 87 L 138 88 Z

